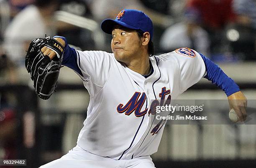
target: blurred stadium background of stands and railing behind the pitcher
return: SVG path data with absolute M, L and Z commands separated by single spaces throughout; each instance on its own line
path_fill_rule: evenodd
M 256 0 L 0 0 L 0 159 L 36 168 L 60 158 L 86 118 L 89 94 L 67 67 L 49 100 L 36 97 L 24 66 L 31 40 L 59 35 L 79 50 L 111 52 L 100 23 L 124 8 L 150 16 L 156 55 L 193 48 L 256 99 Z M 181 98 L 226 96 L 202 79 Z M 256 125 L 166 125 L 152 158 L 157 168 L 256 167 Z

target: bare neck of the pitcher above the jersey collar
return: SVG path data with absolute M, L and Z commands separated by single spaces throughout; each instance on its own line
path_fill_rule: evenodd
M 129 63 L 125 63 L 126 66 L 141 74 L 141 75 L 147 75 L 150 73 L 150 64 L 149 64 L 149 56 L 141 57 L 140 59 L 134 59 Z

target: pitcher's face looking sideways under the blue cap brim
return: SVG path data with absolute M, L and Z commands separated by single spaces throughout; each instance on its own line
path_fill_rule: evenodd
M 128 62 L 138 57 L 141 50 L 141 39 L 134 30 L 117 26 L 112 31 L 111 49 L 115 59 Z

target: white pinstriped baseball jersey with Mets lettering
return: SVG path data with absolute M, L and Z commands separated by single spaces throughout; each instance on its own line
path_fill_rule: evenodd
M 77 144 L 103 157 L 138 158 L 158 149 L 165 122 L 153 125 L 151 100 L 175 99 L 205 75 L 199 53 L 179 48 L 151 56 L 147 78 L 117 61 L 113 53 L 77 51 L 90 104 Z

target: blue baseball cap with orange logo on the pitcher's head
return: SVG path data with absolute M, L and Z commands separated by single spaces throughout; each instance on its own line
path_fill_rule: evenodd
M 124 9 L 118 13 L 115 20 L 103 20 L 101 23 L 101 29 L 105 33 L 112 34 L 112 30 L 115 25 L 122 25 L 125 28 L 148 32 L 150 34 L 150 39 L 153 38 L 153 23 L 151 19 L 142 11 Z

